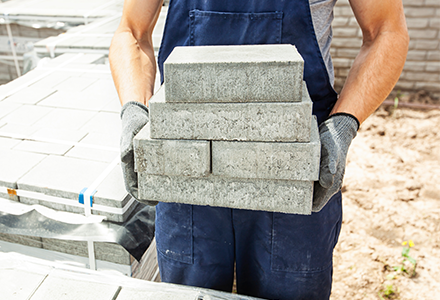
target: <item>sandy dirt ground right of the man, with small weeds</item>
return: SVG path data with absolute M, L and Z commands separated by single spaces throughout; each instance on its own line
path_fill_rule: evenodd
M 365 121 L 343 195 L 331 299 L 440 299 L 440 110 L 380 108 Z

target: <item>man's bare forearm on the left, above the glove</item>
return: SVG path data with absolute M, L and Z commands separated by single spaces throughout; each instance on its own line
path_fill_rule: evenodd
M 113 81 L 124 105 L 137 101 L 148 106 L 156 78 L 152 41 L 162 0 L 125 0 L 124 12 L 113 37 L 109 61 Z

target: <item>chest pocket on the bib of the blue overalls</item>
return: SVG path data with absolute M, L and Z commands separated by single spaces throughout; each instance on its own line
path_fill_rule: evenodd
M 281 43 L 282 12 L 231 13 L 191 10 L 190 45 Z

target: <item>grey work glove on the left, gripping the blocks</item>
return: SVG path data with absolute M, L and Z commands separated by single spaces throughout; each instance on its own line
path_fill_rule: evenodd
M 125 189 L 136 200 L 148 205 L 156 205 L 157 201 L 139 199 L 137 174 L 134 171 L 133 138 L 148 123 L 148 108 L 139 102 L 127 102 L 122 106 L 121 120 L 121 167 Z

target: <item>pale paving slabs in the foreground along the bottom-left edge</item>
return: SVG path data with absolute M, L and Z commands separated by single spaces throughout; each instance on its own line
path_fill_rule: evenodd
M 5 300 L 258 300 L 257 298 L 87 271 L 24 255 L 0 253 Z

